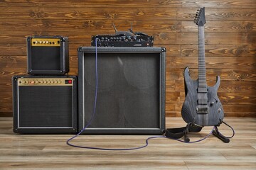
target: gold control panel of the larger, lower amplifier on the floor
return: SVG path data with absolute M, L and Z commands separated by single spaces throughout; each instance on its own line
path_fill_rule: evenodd
M 72 78 L 18 78 L 18 86 L 73 86 Z

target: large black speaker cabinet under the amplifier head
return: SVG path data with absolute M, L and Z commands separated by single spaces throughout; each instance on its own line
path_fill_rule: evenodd
M 96 52 L 97 51 L 97 52 Z M 79 130 L 84 134 L 162 134 L 165 59 L 162 47 L 79 47 Z

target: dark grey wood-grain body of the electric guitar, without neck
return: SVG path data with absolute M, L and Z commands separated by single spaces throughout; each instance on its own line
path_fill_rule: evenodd
M 224 118 L 223 106 L 217 96 L 220 86 L 220 77 L 217 76 L 214 86 L 207 86 L 207 113 L 198 113 L 198 79 L 193 80 L 189 75 L 189 69 L 184 71 L 186 99 L 181 109 L 181 115 L 186 123 L 194 123 L 199 126 L 220 125 Z

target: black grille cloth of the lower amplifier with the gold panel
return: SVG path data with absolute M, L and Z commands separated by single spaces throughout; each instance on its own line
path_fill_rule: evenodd
M 72 127 L 72 86 L 19 86 L 20 127 Z

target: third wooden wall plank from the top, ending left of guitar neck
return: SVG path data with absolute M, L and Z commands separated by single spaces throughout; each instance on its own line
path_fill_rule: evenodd
M 134 18 L 135 20 L 135 18 Z M 118 21 L 114 25 L 118 30 L 128 30 L 131 28 L 131 23 L 133 30 L 146 30 L 149 32 L 154 32 L 154 30 L 159 30 L 161 32 L 176 32 L 181 30 L 181 21 Z M 1 19 L 0 24 L 4 26 L 2 30 L 47 30 L 51 31 L 65 31 L 69 32 L 78 32 L 80 34 L 83 32 L 90 31 L 91 35 L 97 35 L 97 33 L 105 33 L 106 30 L 112 30 L 113 33 L 113 21 L 107 20 L 103 21 L 97 18 L 85 18 L 85 19 L 73 19 L 73 20 L 50 20 L 50 19 L 41 19 L 41 20 L 28 20 L 28 19 Z

